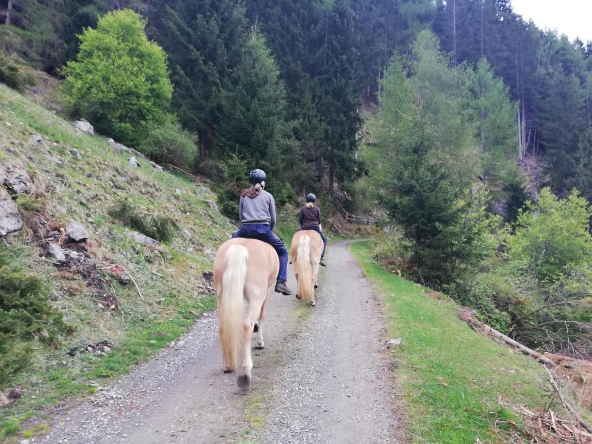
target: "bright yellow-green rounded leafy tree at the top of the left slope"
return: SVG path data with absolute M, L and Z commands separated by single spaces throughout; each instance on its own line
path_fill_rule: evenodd
M 73 112 L 98 131 L 138 145 L 147 127 L 170 121 L 172 95 L 166 56 L 130 11 L 104 15 L 80 36 L 76 61 L 63 69 L 63 91 Z

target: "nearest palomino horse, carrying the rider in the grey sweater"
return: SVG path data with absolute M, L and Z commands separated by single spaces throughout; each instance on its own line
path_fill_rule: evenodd
M 275 284 L 278 271 L 279 259 L 274 248 L 256 239 L 233 238 L 216 252 L 214 286 L 218 295 L 224 372 L 239 370 L 238 384 L 242 391 L 251 383 L 253 329 L 258 332 L 258 348 L 265 346 L 261 323 L 269 287 Z M 243 315 L 243 298 L 249 303 L 246 316 Z M 239 343 L 243 346 L 240 368 Z

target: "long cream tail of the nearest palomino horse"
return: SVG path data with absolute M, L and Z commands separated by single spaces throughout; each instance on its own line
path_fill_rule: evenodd
M 243 295 L 248 259 L 249 251 L 243 245 L 232 245 L 226 252 L 222 296 L 218 301 L 218 331 L 224 364 L 229 371 L 237 370 L 237 352 L 243 330 Z

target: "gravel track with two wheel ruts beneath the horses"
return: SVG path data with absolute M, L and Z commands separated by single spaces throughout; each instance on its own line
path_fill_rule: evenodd
M 289 285 L 295 289 L 292 270 Z M 152 361 L 54 422 L 49 443 L 381 443 L 400 424 L 378 302 L 345 242 L 317 307 L 273 293 L 252 391 L 222 372 L 215 313 Z

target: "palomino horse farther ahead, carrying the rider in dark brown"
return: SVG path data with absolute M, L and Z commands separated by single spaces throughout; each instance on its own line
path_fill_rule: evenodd
M 298 294 L 296 297 L 315 305 L 314 289 L 317 288 L 318 262 L 323 252 L 323 239 L 314 230 L 295 232 L 290 247 L 290 259 L 296 280 Z

